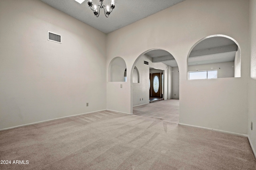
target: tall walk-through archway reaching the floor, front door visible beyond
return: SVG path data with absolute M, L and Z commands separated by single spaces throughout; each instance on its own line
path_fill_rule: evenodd
M 140 83 L 133 80 L 136 73 Z M 172 54 L 163 49 L 145 51 L 134 62 L 131 77 L 132 114 L 179 123 L 179 70 Z M 155 101 L 160 102 L 151 103 L 150 96 L 156 94 Z

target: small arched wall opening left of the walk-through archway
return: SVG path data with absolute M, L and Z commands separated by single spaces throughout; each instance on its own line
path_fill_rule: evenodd
M 108 66 L 108 81 L 109 82 L 124 82 L 125 81 L 126 63 L 122 57 L 115 57 Z

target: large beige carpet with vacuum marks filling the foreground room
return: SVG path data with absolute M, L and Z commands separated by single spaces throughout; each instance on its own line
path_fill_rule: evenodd
M 246 137 L 110 111 L 0 131 L 0 169 L 255 170 Z

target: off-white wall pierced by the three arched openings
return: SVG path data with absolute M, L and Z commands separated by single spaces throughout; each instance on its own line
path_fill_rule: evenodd
M 127 98 L 123 98 L 120 94 L 111 97 L 107 94 L 107 107 L 111 106 L 113 110 L 122 109 L 131 113 L 133 102 L 128 99 L 133 98 L 130 84 L 132 66 L 142 53 L 150 49 L 163 49 L 174 56 L 179 66 L 180 123 L 247 134 L 248 2 L 248 0 L 186 0 L 109 33 L 107 65 L 114 57 L 122 57 L 126 61 L 129 84 L 123 89 Z M 190 49 L 200 39 L 216 34 L 228 35 L 240 45 L 241 78 L 187 80 L 187 57 Z M 114 91 L 114 85 L 107 86 L 107 91 Z M 111 101 L 113 97 L 130 107 L 114 106 L 115 101 Z

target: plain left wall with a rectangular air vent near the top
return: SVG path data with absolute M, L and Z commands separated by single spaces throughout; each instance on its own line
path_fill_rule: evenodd
M 1 0 L 0 96 L 0 129 L 106 109 L 106 35 L 39 0 Z

